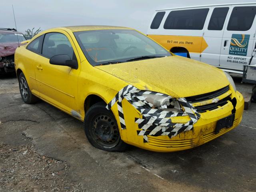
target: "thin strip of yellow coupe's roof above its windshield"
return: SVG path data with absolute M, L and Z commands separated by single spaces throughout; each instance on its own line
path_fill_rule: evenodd
M 89 30 L 104 30 L 104 29 L 132 29 L 127 27 L 118 27 L 118 26 L 100 26 L 100 25 L 84 25 L 84 26 L 67 26 L 63 28 L 68 28 L 73 32 L 78 31 L 89 31 Z

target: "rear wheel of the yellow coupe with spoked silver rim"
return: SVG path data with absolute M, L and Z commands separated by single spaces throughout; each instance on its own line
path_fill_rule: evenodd
M 18 78 L 19 82 L 19 88 L 20 88 L 20 95 L 22 100 L 27 104 L 32 104 L 37 102 L 39 99 L 32 94 L 30 91 L 30 88 L 28 86 L 28 82 L 24 76 L 24 74 L 21 72 L 20 76 Z

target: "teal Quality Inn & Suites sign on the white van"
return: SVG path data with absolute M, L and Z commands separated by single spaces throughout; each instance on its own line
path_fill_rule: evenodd
M 229 54 L 246 56 L 250 35 L 232 34 L 230 41 Z

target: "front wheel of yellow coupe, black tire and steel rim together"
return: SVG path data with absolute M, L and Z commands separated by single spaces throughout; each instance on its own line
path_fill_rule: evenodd
M 122 141 L 118 125 L 104 102 L 91 106 L 84 117 L 84 132 L 92 146 L 105 151 L 124 151 L 128 144 Z

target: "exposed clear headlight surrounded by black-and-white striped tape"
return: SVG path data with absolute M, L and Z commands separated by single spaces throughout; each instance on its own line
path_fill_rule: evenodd
M 180 103 L 170 97 L 162 96 L 162 95 L 152 95 L 152 94 L 142 94 L 146 98 L 146 102 L 151 103 L 153 108 L 172 111 L 172 112 L 180 112 L 181 107 Z

